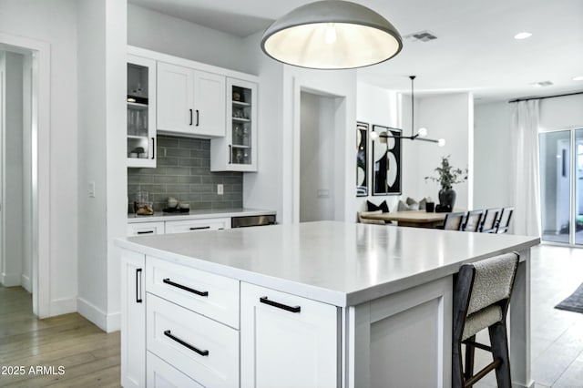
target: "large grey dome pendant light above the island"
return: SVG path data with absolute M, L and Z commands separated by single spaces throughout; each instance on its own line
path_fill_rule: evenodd
M 343 0 L 302 5 L 276 20 L 261 38 L 261 49 L 273 59 L 316 69 L 378 64 L 402 47 L 401 36 L 382 15 Z

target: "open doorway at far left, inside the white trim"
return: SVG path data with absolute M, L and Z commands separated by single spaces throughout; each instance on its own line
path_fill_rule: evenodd
M 0 283 L 32 292 L 32 55 L 0 50 Z

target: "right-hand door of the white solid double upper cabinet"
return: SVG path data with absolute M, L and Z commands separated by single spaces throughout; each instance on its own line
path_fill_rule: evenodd
M 194 132 L 207 137 L 225 136 L 225 77 L 194 72 Z

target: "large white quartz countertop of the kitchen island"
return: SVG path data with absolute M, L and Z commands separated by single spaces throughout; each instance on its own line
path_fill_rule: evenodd
M 335 221 L 118 239 L 122 248 L 336 306 L 403 291 L 538 238 Z

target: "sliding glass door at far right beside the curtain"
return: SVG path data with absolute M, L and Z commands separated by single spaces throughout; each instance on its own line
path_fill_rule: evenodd
M 583 129 L 539 135 L 542 240 L 583 245 Z

